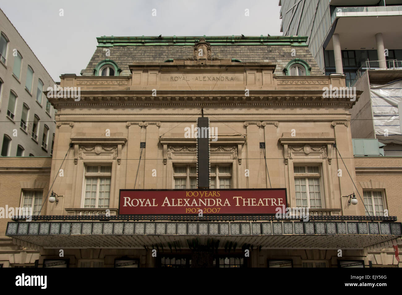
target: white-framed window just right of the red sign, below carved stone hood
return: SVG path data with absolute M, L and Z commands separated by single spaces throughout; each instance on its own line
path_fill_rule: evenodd
M 322 208 L 320 167 L 295 165 L 293 172 L 295 176 L 296 207 Z

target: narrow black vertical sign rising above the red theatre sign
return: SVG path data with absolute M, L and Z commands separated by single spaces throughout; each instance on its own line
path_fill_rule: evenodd
M 197 167 L 198 188 L 209 189 L 209 120 L 200 117 L 197 120 Z

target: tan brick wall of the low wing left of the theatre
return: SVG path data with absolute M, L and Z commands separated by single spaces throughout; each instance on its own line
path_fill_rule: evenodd
M 35 186 L 41 187 L 37 190 L 43 190 L 44 200 L 49 191 L 50 167 L 51 157 L 0 158 L 0 207 L 20 207 L 22 190 L 29 187 L 35 189 Z M 46 212 L 46 208 L 47 201 L 42 212 Z M 9 218 L 0 218 L 0 237 L 5 236 L 7 222 L 10 221 Z

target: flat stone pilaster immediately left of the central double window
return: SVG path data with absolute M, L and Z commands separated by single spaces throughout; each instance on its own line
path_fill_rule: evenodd
M 163 185 L 163 158 L 162 151 L 158 150 L 160 122 L 145 122 L 144 126 L 146 127 L 145 153 L 142 153 L 145 163 L 144 189 L 161 189 Z M 152 176 L 155 172 L 156 177 Z

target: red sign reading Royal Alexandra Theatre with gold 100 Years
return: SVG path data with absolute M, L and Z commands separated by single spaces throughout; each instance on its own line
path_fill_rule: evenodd
M 286 204 L 286 189 L 121 189 L 119 214 L 263 215 Z

